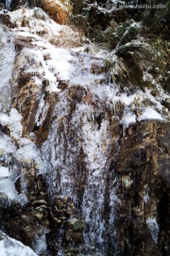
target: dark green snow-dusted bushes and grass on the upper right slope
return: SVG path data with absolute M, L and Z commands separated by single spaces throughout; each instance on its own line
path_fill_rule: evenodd
M 100 8 L 106 1 L 94 4 L 91 0 L 72 0 L 72 23 L 91 41 L 111 52 L 105 60 L 109 80 L 118 82 L 121 90 L 148 88 L 154 97 L 160 98 L 159 86 L 170 92 L 170 1 L 125 2 L 150 6 L 162 4 L 166 8 L 107 12 Z M 116 63 L 113 55 L 117 55 Z M 162 98 L 162 105 L 170 109 L 168 99 Z

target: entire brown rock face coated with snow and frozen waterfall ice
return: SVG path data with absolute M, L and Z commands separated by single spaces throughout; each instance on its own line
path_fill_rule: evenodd
M 1 230 L 43 256 L 168 256 L 170 125 L 161 103 L 111 81 L 98 55 L 59 48 L 72 30 L 42 10 L 8 19 L 11 29 L 0 27 Z

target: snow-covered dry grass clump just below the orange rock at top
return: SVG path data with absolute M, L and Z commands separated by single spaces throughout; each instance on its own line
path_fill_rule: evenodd
M 80 46 L 82 33 L 73 26 L 60 25 L 53 21 L 42 9 L 18 9 L 10 13 L 17 36 L 40 36 L 57 47 Z M 83 37 L 84 38 L 84 37 Z M 85 39 L 85 38 L 84 38 Z

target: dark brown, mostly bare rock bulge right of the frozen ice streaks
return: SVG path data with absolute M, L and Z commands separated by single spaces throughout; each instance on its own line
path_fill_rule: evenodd
M 132 125 L 120 142 L 120 255 L 169 255 L 169 125 Z

